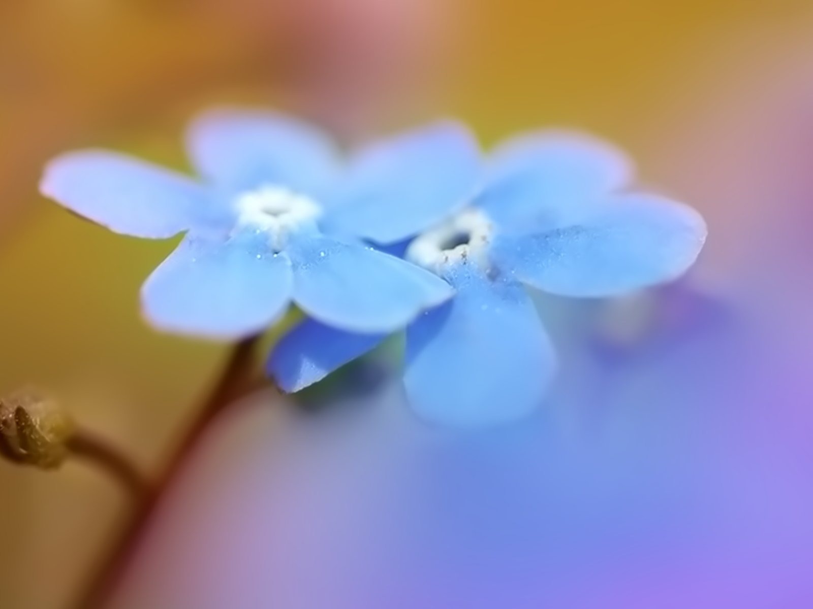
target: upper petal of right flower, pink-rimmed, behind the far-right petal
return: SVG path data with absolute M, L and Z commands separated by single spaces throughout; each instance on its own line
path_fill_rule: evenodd
M 498 147 L 476 205 L 504 227 L 557 227 L 597 196 L 630 184 L 634 173 L 633 162 L 602 140 L 539 132 Z

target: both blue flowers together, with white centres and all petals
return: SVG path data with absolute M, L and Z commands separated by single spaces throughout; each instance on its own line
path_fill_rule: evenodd
M 484 159 L 442 122 L 342 162 L 296 119 L 212 110 L 188 147 L 199 181 L 91 150 L 51 162 L 41 191 L 125 235 L 185 233 L 141 292 L 160 330 L 237 339 L 292 303 L 307 313 L 268 361 L 285 391 L 406 328 L 406 391 L 431 421 L 489 424 L 541 404 L 554 352 L 527 287 L 633 292 L 682 274 L 706 237 L 693 209 L 630 190 L 622 153 L 574 133 Z

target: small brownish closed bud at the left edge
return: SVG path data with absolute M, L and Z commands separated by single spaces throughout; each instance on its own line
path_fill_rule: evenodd
M 40 391 L 25 389 L 0 398 L 0 453 L 15 463 L 58 467 L 74 430 L 67 412 Z

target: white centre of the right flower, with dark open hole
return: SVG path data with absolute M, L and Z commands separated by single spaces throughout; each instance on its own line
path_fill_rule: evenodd
M 464 260 L 486 267 L 492 230 L 483 212 L 466 209 L 415 239 L 406 250 L 406 259 L 437 274 Z

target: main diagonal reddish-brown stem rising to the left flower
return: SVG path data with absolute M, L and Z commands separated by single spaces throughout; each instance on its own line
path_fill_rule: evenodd
M 115 585 L 126 571 L 133 559 L 142 533 L 147 529 L 150 520 L 158 506 L 163 491 L 172 486 L 178 473 L 183 468 L 187 457 L 197 446 L 198 440 L 207 430 L 212 420 L 223 412 L 228 404 L 233 403 L 243 395 L 247 395 L 258 387 L 254 378 L 254 349 L 257 337 L 245 339 L 237 343 L 220 374 L 220 378 L 211 388 L 207 398 L 203 400 L 192 425 L 186 430 L 183 438 L 176 447 L 167 466 L 160 474 L 157 483 L 146 495 L 132 520 L 129 521 L 120 534 L 120 537 L 111 547 L 111 551 L 100 564 L 98 571 L 89 582 L 88 587 L 80 594 L 78 602 L 73 606 L 76 609 L 99 609 L 109 601 Z

